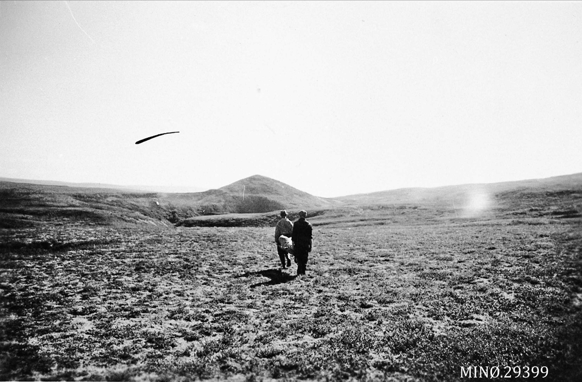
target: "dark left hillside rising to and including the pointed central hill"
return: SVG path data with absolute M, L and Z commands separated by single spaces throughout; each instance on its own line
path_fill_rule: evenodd
M 239 192 L 240 184 L 243 185 L 240 188 L 249 192 L 244 195 Z M 175 194 L 0 181 L 0 226 L 5 228 L 41 222 L 168 226 L 201 215 L 313 210 L 337 204 L 340 202 L 314 197 L 262 176 L 249 177 L 218 190 Z M 246 217 L 243 215 L 240 219 Z M 259 220 L 263 222 L 265 217 Z

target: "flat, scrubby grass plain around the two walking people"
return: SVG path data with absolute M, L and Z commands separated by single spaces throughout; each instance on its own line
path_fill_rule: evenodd
M 582 380 L 580 195 L 527 195 L 320 212 L 305 279 L 272 227 L 2 229 L 0 380 Z

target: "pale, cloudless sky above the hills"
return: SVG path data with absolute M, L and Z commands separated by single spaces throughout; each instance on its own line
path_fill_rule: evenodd
M 2 1 L 0 176 L 334 197 L 582 172 L 581 40 L 581 2 Z

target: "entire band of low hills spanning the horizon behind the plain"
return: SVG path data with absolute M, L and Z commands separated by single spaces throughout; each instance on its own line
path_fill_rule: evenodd
M 436 208 L 442 214 L 447 211 L 457 214 L 474 205 L 525 211 L 519 213 L 549 206 L 546 215 L 577 217 L 582 214 L 581 198 L 582 173 L 503 183 L 400 188 L 337 198 L 315 197 L 260 175 L 218 189 L 190 193 L 83 188 L 79 184 L 29 184 L 0 178 L 0 227 L 27 226 L 37 221 L 62 224 L 81 220 L 91 224 L 129 222 L 163 226 L 184 220 L 194 224 L 201 220 L 206 225 L 244 226 L 270 224 L 276 220 L 279 209 L 288 209 L 290 213 L 307 209 L 310 216 L 338 215 L 343 209 L 346 216 L 364 219 L 360 215 L 368 210 Z M 533 205 L 532 200 L 543 202 Z M 214 218 L 217 220 L 212 221 Z

